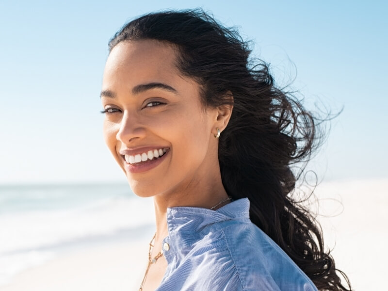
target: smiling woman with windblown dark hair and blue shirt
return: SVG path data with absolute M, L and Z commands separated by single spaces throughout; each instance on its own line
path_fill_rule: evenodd
M 109 49 L 105 141 L 156 213 L 139 290 L 348 290 L 291 196 L 314 118 L 238 32 L 200 10 L 154 13 Z

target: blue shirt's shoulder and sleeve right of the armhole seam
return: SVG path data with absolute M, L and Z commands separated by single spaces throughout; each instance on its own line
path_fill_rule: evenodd
M 243 290 L 315 291 L 305 273 L 253 223 L 222 229 Z

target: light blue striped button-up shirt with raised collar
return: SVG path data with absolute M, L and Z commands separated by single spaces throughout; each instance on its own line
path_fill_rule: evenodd
M 249 219 L 249 200 L 218 210 L 167 210 L 168 266 L 157 291 L 317 291 L 311 280 Z

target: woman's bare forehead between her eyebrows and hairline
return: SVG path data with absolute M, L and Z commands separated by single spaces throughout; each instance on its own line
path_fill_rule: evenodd
M 104 70 L 106 78 L 122 77 L 155 79 L 176 75 L 177 49 L 156 40 L 124 41 L 109 54 Z

